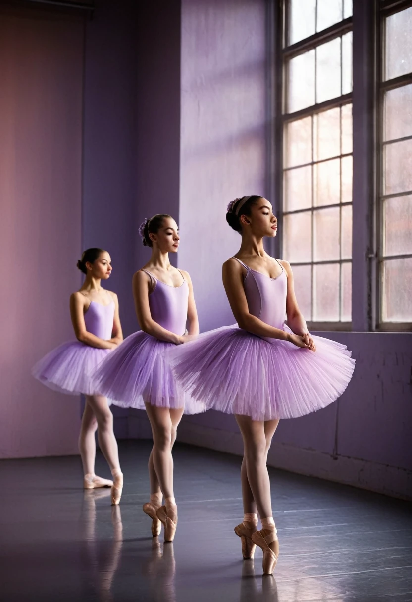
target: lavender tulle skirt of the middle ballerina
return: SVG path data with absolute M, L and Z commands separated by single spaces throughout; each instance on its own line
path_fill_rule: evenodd
M 173 287 L 171 287 L 173 288 Z M 173 376 L 166 351 L 176 347 L 146 332 L 127 337 L 95 371 L 93 386 L 120 408 L 145 409 L 145 402 L 159 408 L 179 409 L 185 414 L 204 411 Z

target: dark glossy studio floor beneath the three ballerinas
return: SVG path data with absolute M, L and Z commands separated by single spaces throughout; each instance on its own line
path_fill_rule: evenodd
M 304 602 L 412 600 L 407 503 L 271 470 L 280 556 L 242 561 L 240 458 L 176 445 L 179 524 L 152 540 L 149 442 L 120 445 L 125 488 L 81 489 L 78 458 L 0 462 L 0 600 Z M 99 472 L 108 476 L 104 462 Z

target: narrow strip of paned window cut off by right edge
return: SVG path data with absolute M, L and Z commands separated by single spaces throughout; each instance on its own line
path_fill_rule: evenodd
M 381 2 L 379 324 L 412 321 L 412 7 Z M 390 8 L 385 8 L 389 7 Z

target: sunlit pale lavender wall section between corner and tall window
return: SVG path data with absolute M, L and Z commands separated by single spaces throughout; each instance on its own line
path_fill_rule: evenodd
M 226 205 L 265 194 L 265 2 L 183 0 L 181 18 L 178 265 L 192 276 L 208 330 L 233 322 L 220 275 L 240 237 Z

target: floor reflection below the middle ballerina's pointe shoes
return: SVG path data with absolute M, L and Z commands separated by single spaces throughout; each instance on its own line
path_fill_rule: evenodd
M 176 602 L 176 560 L 172 542 L 152 539 L 151 556 L 143 564 L 143 574 L 148 577 L 151 600 L 154 602 Z

